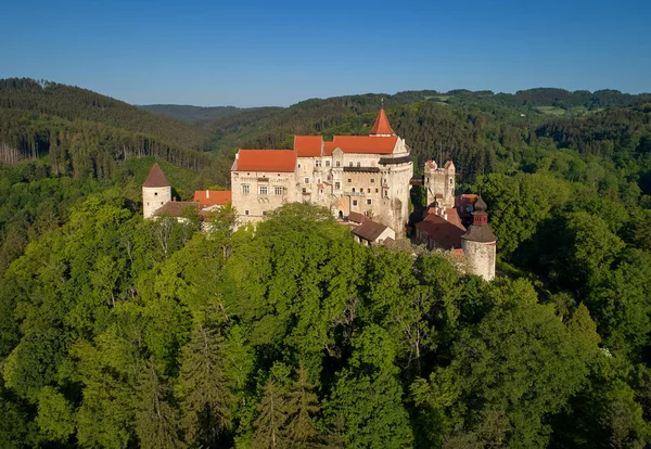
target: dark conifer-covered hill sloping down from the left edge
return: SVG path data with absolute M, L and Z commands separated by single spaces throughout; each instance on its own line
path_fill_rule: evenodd
M 119 159 L 205 166 L 209 133 L 87 89 L 0 79 L 0 161 L 48 155 L 55 175 L 105 178 Z

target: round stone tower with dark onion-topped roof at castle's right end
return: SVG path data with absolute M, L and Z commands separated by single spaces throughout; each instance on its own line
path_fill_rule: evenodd
M 486 281 L 495 278 L 495 256 L 497 238 L 488 227 L 486 203 L 480 196 L 474 205 L 472 224 L 468 232 L 461 235 L 461 247 L 472 274 L 477 274 Z

